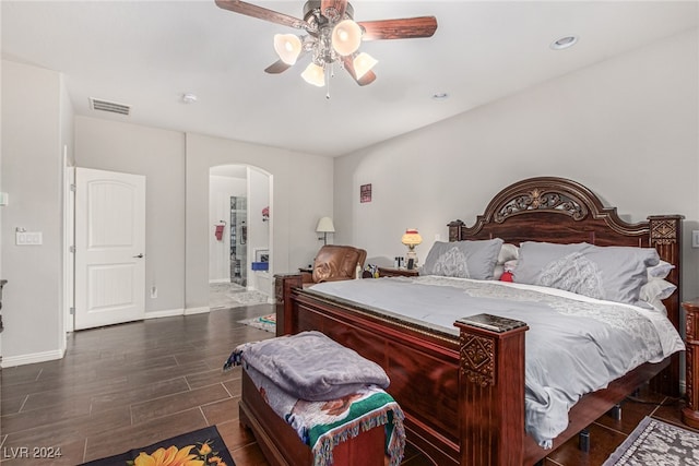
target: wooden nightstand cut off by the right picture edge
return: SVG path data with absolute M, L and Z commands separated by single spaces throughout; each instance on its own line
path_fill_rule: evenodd
M 699 429 L 699 298 L 683 302 L 686 313 L 685 346 L 687 405 L 682 409 L 682 421 Z

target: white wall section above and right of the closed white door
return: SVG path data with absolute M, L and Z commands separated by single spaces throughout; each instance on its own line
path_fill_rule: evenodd
M 185 303 L 185 134 L 75 117 L 75 163 L 84 168 L 145 176 L 146 316 L 181 313 Z M 204 222 L 208 225 L 208 219 Z M 157 298 L 151 298 L 153 286 L 157 288 Z

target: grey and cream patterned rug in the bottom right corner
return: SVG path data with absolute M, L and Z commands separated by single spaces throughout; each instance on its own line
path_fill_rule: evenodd
M 645 417 L 603 466 L 699 466 L 699 432 Z

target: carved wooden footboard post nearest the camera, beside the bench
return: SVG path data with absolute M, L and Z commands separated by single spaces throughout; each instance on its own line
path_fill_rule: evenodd
M 524 461 L 524 335 L 521 321 L 459 319 L 461 466 Z

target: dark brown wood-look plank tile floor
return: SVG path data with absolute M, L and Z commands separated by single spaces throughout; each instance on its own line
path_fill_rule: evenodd
M 76 332 L 63 359 L 1 370 L 2 466 L 78 465 L 211 425 L 236 465 L 268 465 L 238 422 L 240 368 L 222 366 L 238 344 L 273 336 L 238 321 L 271 312 L 259 304 Z M 680 401 L 640 396 L 625 403 L 621 421 L 591 426 L 590 453 L 573 439 L 546 464 L 601 465 L 647 415 L 679 423 Z M 22 446 L 60 447 L 62 456 L 12 458 Z M 403 464 L 430 463 L 408 445 Z

